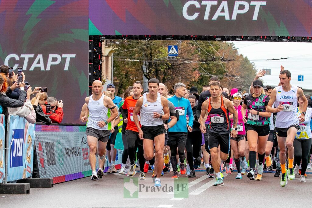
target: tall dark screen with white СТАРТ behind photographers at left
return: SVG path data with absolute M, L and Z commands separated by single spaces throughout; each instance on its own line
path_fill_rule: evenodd
M 88 94 L 88 0 L 2 0 L 0 65 L 63 100 L 64 123 L 79 123 Z

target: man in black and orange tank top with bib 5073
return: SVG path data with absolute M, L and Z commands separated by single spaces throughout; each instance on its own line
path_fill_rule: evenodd
M 238 114 L 229 99 L 223 98 L 218 82 L 212 82 L 210 85 L 211 97 L 202 104 L 202 111 L 200 115 L 200 124 L 202 133 L 209 131 L 208 146 L 211 153 L 212 166 L 217 175 L 217 181 L 214 186 L 223 186 L 223 178 L 220 172 L 221 161 L 227 160 L 230 151 L 230 137 L 237 136 L 237 118 Z M 231 120 L 229 119 L 229 112 L 233 115 L 233 128 L 231 130 Z M 206 130 L 205 121 L 207 116 L 210 116 L 209 128 Z M 220 151 L 218 147 L 220 145 Z M 220 152 L 220 153 L 219 153 Z

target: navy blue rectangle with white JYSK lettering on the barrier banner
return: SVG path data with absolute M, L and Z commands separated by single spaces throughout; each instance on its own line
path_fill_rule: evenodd
M 10 143 L 10 167 L 19 167 L 23 165 L 23 144 L 24 129 L 13 129 L 12 140 Z

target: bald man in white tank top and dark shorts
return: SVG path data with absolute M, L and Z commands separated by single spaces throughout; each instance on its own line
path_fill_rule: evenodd
M 97 181 L 103 176 L 104 154 L 106 144 L 110 136 L 110 130 L 107 129 L 107 124 L 118 116 L 118 111 L 112 99 L 102 95 L 103 85 L 100 80 L 95 80 L 92 83 L 92 93 L 90 97 L 85 98 L 87 109 L 85 116 L 81 118 L 82 122 L 88 120 L 86 134 L 87 142 L 90 149 L 89 162 L 92 170 L 92 181 Z M 108 109 L 110 108 L 110 117 L 108 117 Z M 96 157 L 95 152 L 98 149 L 99 155 L 99 170 L 95 171 Z

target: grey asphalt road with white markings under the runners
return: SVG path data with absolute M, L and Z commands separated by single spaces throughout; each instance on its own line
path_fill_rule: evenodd
M 196 172 L 195 178 L 180 177 L 181 184 L 188 184 L 188 191 L 184 187 L 182 192 L 181 184 L 180 192 L 169 190 L 175 186 L 171 179 L 173 173 L 162 177 L 162 186 L 168 190 L 153 192 L 151 174 L 146 174 L 146 181 L 136 180 L 138 174 L 131 179 L 105 174 L 100 181 L 87 177 L 56 184 L 53 188 L 32 188 L 30 194 L 0 195 L 0 207 L 311 207 L 310 174 L 306 183 L 300 183 L 297 176 L 295 181 L 281 187 L 280 178 L 273 177 L 273 173 L 264 173 L 262 181 L 250 181 L 246 176 L 235 179 L 236 172 L 233 172 L 225 174 L 224 186 L 212 186 L 216 179 L 206 177 L 201 171 Z M 131 196 L 138 198 L 125 198 Z

